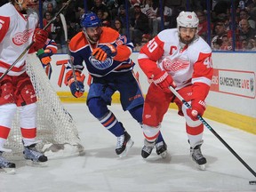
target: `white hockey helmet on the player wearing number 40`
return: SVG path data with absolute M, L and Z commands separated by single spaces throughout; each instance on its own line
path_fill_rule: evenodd
M 198 28 L 199 20 L 195 12 L 180 12 L 177 17 L 177 28 Z

